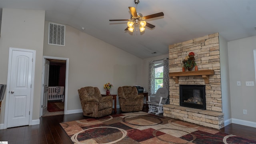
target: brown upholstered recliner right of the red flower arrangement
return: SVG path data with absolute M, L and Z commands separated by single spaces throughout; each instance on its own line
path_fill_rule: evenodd
M 139 95 L 135 86 L 118 88 L 118 100 L 122 112 L 137 112 L 143 108 L 144 95 Z

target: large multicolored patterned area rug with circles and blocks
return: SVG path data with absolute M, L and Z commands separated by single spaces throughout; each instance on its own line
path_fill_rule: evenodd
M 60 123 L 75 144 L 256 144 L 217 130 L 130 112 Z

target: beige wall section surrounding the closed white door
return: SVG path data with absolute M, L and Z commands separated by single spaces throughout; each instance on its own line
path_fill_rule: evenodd
M 36 50 L 32 120 L 39 119 L 44 38 L 43 10 L 3 8 L 0 38 L 0 83 L 7 84 L 9 48 Z M 0 124 L 4 123 L 6 96 L 2 102 Z

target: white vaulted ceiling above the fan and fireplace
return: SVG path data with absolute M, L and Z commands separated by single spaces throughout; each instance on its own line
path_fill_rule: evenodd
M 143 16 L 155 25 L 141 34 L 124 31 L 134 0 L 0 0 L 2 8 L 45 10 L 45 20 L 66 24 L 140 58 L 168 54 L 168 45 L 219 32 L 227 41 L 256 36 L 256 0 L 140 0 Z M 81 30 L 82 31 L 82 30 Z M 151 54 L 156 52 L 156 54 Z

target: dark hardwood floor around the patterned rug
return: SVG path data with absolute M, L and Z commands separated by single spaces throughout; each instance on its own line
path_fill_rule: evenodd
M 148 112 L 146 106 L 143 111 Z M 120 113 L 122 112 L 118 109 L 117 114 Z M 84 118 L 86 117 L 82 113 L 42 117 L 38 125 L 0 130 L 0 141 L 8 141 L 8 144 L 72 144 L 59 123 Z M 229 124 L 219 131 L 256 141 L 256 128 Z

